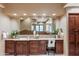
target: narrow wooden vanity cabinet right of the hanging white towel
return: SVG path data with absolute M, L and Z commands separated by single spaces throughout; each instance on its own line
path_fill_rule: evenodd
M 63 54 L 63 40 L 56 40 L 56 54 Z

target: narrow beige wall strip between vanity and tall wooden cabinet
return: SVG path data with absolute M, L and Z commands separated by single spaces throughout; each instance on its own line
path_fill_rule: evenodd
M 64 55 L 68 55 L 68 27 L 67 27 L 67 15 L 65 14 L 60 20 L 60 28 L 63 29 L 64 32 Z

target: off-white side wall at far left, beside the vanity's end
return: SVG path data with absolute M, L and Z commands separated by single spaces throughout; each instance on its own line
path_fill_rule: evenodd
M 10 19 L 8 17 L 6 17 L 3 13 L 2 13 L 2 9 L 0 9 L 0 55 L 4 55 L 5 52 L 5 48 L 4 48 L 4 40 L 1 39 L 1 31 L 8 31 L 10 32 Z

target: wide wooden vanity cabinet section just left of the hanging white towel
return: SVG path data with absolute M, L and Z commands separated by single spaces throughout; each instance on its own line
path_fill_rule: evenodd
M 46 44 L 47 44 L 47 41 L 43 41 L 43 40 L 30 41 L 30 54 L 33 54 L 33 55 L 45 54 Z

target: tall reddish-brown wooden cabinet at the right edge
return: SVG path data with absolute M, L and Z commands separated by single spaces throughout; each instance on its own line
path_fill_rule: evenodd
M 69 55 L 79 55 L 79 14 L 71 13 L 68 17 L 69 22 Z

